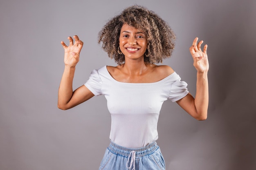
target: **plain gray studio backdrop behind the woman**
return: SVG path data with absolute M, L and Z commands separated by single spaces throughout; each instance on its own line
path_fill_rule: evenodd
M 71 110 L 57 108 L 63 73 L 61 40 L 79 35 L 84 47 L 74 88 L 94 68 L 116 65 L 97 44 L 102 26 L 139 4 L 173 28 L 177 42 L 163 64 L 195 95 L 189 46 L 208 44 L 209 113 L 197 121 L 165 102 L 157 143 L 167 170 L 256 169 L 255 0 L 1 0 L 0 170 L 96 170 L 109 144 L 103 96 Z

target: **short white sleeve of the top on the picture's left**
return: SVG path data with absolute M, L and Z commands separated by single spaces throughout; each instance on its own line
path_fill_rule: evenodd
M 87 82 L 84 84 L 94 95 L 102 95 L 102 81 L 97 70 L 92 70 Z

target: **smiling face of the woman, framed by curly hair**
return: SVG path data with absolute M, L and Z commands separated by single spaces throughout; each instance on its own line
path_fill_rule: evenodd
M 146 34 L 133 26 L 124 24 L 120 32 L 119 46 L 126 60 L 128 58 L 133 60 L 143 58 L 144 60 L 144 53 L 147 49 Z

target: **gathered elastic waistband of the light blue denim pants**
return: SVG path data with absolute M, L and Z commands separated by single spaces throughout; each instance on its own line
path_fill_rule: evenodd
M 124 146 L 119 146 L 112 141 L 108 146 L 108 150 L 113 154 L 120 155 L 122 157 L 127 157 L 127 158 L 129 157 L 132 151 L 135 151 L 136 158 L 139 158 L 139 157 L 144 157 L 146 155 L 153 154 L 157 149 L 159 149 L 159 146 L 155 141 L 142 148 L 126 148 Z

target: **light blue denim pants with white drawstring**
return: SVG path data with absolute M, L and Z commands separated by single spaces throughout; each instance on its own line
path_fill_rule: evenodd
M 126 148 L 111 141 L 99 170 L 165 170 L 165 162 L 156 142 L 143 148 Z

